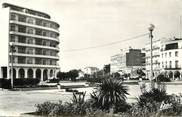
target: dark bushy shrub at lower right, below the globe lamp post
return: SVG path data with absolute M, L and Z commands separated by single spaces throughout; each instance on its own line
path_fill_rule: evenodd
M 135 117 L 155 116 L 163 101 L 170 99 L 165 90 L 153 88 L 139 96 L 138 102 L 132 105 L 130 113 Z

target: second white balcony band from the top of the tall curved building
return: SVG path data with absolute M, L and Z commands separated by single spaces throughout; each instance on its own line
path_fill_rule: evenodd
M 56 30 L 56 29 L 53 29 L 53 28 L 44 27 L 44 26 L 40 26 L 40 25 L 36 25 L 36 24 L 30 24 L 30 23 L 27 23 L 27 22 L 10 20 L 10 23 L 14 23 L 14 24 L 18 24 L 18 25 L 23 25 L 23 26 L 34 27 L 34 28 L 39 28 L 39 29 L 45 29 L 45 30 L 48 30 L 48 31 L 53 31 L 53 32 L 59 33 L 59 30 Z

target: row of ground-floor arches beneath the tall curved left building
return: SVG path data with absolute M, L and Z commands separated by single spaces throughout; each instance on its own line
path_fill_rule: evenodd
M 9 72 L 7 72 L 9 71 Z M 41 81 L 57 78 L 57 72 L 59 69 L 55 68 L 13 68 L 13 78 L 38 78 Z M 7 67 L 1 67 L 0 78 L 10 78 L 11 69 Z

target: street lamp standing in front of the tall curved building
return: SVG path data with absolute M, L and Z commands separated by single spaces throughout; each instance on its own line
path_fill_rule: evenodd
M 9 43 L 11 51 L 11 88 L 13 89 L 13 52 L 15 52 L 15 46 L 13 42 Z

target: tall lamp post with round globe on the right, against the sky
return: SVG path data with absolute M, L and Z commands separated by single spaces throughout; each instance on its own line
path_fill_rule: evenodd
M 148 28 L 149 30 L 149 38 L 150 38 L 150 80 L 153 80 L 153 53 L 152 53 L 152 39 L 153 39 L 153 30 L 154 30 L 155 26 L 153 24 L 150 24 L 150 27 Z

